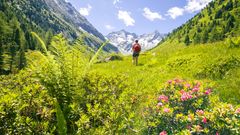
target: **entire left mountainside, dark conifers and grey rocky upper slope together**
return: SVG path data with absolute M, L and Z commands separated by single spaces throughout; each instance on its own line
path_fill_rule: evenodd
M 88 48 L 92 52 L 97 51 L 105 42 L 103 35 L 80 16 L 70 4 L 62 0 L 58 2 L 61 7 L 54 9 L 54 6 L 59 5 L 51 1 L 0 1 L 0 74 L 22 69 L 26 65 L 25 52 L 29 49 L 38 49 L 39 43 L 31 32 L 36 32 L 44 39 L 47 48 L 52 36 L 59 33 L 63 33 L 71 44 L 76 44 L 79 38 L 83 38 L 86 42 L 83 48 Z M 71 18 L 72 16 L 75 18 Z M 103 50 L 118 51 L 110 44 Z

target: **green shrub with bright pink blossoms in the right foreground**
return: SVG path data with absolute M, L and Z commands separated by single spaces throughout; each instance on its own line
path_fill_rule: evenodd
M 148 134 L 240 134 L 240 108 L 212 92 L 200 82 L 168 81 L 149 109 Z

